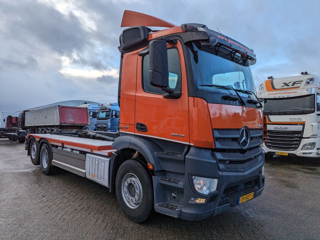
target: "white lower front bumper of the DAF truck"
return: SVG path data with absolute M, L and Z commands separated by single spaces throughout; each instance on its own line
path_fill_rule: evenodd
M 301 150 L 302 146 L 309 142 L 316 142 L 316 146 L 312 150 Z M 303 138 L 301 140 L 300 146 L 297 150 L 294 151 L 284 151 L 284 150 L 274 150 L 269 149 L 264 143 L 263 147 L 264 151 L 266 153 L 275 154 L 275 152 L 287 152 L 288 154 L 295 155 L 295 156 L 301 156 L 301 157 L 320 157 L 320 138 L 314 137 L 314 138 Z

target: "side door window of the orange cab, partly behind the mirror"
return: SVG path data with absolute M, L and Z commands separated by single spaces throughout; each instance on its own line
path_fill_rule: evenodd
M 151 86 L 149 80 L 149 55 L 145 55 L 142 60 L 142 88 L 146 92 L 164 94 L 161 88 Z M 169 65 L 169 86 L 172 91 L 181 90 L 181 66 L 177 48 L 168 49 L 168 65 Z

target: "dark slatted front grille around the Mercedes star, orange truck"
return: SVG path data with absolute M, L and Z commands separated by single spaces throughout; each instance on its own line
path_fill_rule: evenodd
M 244 172 L 263 161 L 262 129 L 249 129 L 250 143 L 248 149 L 239 144 L 240 129 L 214 129 L 215 149 L 212 154 L 218 161 L 220 171 Z

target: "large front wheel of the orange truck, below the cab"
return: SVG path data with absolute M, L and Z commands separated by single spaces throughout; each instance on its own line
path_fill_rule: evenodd
M 143 222 L 148 218 L 153 207 L 152 185 L 147 171 L 137 161 L 130 159 L 121 164 L 116 175 L 116 196 L 130 220 Z

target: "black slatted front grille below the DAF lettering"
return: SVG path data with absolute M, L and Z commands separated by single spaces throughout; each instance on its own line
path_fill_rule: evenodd
M 267 148 L 280 151 L 294 151 L 300 146 L 302 131 L 271 131 L 268 130 Z

